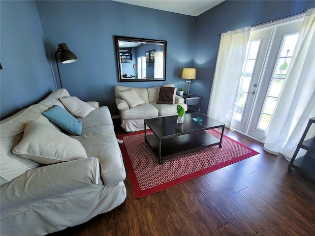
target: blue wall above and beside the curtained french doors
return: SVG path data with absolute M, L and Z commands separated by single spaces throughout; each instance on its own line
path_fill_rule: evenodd
M 192 93 L 203 96 L 201 111 L 207 113 L 213 76 L 216 68 L 220 33 L 276 20 L 315 7 L 315 1 L 252 0 L 224 1 L 199 15 L 196 20 L 195 81 Z

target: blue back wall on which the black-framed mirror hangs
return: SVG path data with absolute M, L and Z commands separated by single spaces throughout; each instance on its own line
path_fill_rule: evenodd
M 50 58 L 66 43 L 78 61 L 60 64 L 72 96 L 107 105 L 118 115 L 114 87 L 184 86 L 181 70 L 192 66 L 195 17 L 115 1 L 36 1 Z M 122 13 L 122 14 L 120 14 Z M 118 83 L 114 35 L 167 41 L 166 82 Z M 193 33 L 194 35 L 194 33 Z M 54 66 L 56 78 L 58 72 Z

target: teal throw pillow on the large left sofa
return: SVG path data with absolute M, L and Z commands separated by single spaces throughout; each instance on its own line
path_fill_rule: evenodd
M 82 134 L 82 122 L 74 118 L 68 111 L 63 109 L 61 106 L 55 105 L 43 115 L 47 117 L 51 122 L 56 124 L 58 127 L 67 131 L 70 134 L 81 135 Z

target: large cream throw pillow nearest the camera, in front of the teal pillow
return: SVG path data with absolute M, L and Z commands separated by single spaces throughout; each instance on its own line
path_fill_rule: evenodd
M 34 120 L 25 126 L 23 138 L 12 152 L 43 165 L 88 158 L 79 141 Z

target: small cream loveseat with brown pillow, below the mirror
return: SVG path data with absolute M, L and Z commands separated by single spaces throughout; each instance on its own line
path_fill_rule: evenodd
M 165 96 L 161 91 L 161 87 L 163 87 L 162 91 L 168 90 L 169 94 L 166 93 Z M 168 88 L 173 88 L 173 90 Z M 164 99 L 159 102 L 162 95 L 164 95 Z M 184 103 L 185 99 L 176 95 L 174 84 L 152 88 L 116 86 L 115 97 L 122 121 L 121 126 L 126 132 L 143 130 L 144 119 L 177 115 L 178 104 L 182 105 L 184 110 L 187 111 L 187 105 Z

